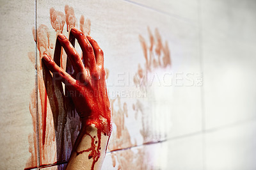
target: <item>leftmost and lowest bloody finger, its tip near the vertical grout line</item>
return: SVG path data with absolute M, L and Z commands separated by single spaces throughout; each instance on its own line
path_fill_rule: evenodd
M 56 65 L 56 63 L 51 59 L 50 56 L 44 55 L 43 57 L 44 64 L 54 75 L 59 75 L 59 80 L 66 85 L 76 85 L 76 80 L 71 77 L 68 73 L 66 73 L 60 66 Z M 56 76 L 55 76 L 56 77 Z

